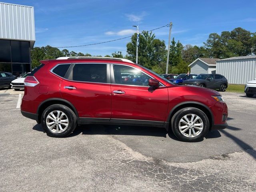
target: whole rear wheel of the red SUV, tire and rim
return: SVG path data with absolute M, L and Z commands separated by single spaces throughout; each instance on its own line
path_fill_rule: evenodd
M 76 128 L 76 114 L 67 106 L 54 104 L 41 117 L 42 127 L 52 137 L 66 137 Z

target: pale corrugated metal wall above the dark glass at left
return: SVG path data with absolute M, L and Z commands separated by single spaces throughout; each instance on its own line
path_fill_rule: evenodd
M 35 41 L 34 8 L 0 3 L 0 38 Z

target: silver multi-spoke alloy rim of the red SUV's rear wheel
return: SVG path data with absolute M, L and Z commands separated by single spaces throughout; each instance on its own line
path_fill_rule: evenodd
M 53 133 L 64 132 L 68 128 L 68 117 L 59 110 L 50 112 L 46 117 L 46 126 Z

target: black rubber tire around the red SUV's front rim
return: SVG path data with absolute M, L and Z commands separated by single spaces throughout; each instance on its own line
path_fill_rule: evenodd
M 202 123 L 203 123 L 203 128 L 202 128 L 202 132 L 199 135 L 194 136 L 194 137 L 187 137 L 187 136 L 184 136 L 180 132 L 179 122 L 182 119 L 182 117 L 187 115 L 187 114 L 195 114 L 195 115 L 197 115 L 201 118 Z M 206 116 L 206 114 L 202 110 L 200 110 L 198 108 L 194 108 L 194 107 L 186 107 L 186 108 L 178 110 L 174 114 L 174 116 L 172 117 L 172 120 L 171 120 L 171 128 L 172 128 L 172 132 L 174 133 L 174 135 L 178 139 L 180 139 L 181 141 L 184 141 L 184 142 L 198 142 L 198 141 L 203 140 L 204 136 L 208 133 L 208 131 L 209 131 L 209 120 L 208 120 L 208 117 Z

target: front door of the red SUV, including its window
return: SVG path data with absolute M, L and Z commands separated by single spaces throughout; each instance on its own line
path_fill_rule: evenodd
M 133 74 L 122 78 L 123 73 Z M 114 77 L 113 77 L 114 76 Z M 166 120 L 168 88 L 148 86 L 148 74 L 122 64 L 111 65 L 111 120 L 158 124 Z M 144 121 L 144 122 L 143 122 Z

